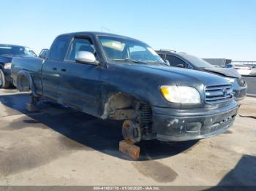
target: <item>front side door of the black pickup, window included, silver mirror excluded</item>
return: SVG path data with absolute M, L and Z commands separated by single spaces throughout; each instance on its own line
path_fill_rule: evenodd
M 102 69 L 99 65 L 77 63 L 75 54 L 78 51 L 96 55 L 90 38 L 72 40 L 60 70 L 59 102 L 97 116 L 101 95 L 99 76 Z

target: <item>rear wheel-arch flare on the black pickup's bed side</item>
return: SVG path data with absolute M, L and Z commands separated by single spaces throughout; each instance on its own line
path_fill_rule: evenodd
M 21 78 L 22 77 L 25 77 L 26 80 L 28 80 L 29 82 L 29 87 L 23 87 L 21 85 Z M 29 71 L 25 71 L 25 70 L 20 70 L 17 74 L 17 79 L 16 79 L 16 82 L 17 82 L 17 89 L 20 90 L 20 92 L 25 92 L 25 91 L 29 91 L 31 90 L 31 93 L 32 95 L 38 97 L 37 93 L 36 93 L 36 88 L 34 86 L 34 81 L 33 79 L 31 78 L 31 75 L 29 74 Z

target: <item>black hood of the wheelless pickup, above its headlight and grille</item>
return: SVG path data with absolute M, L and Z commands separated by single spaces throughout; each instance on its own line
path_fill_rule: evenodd
M 175 83 L 176 85 L 187 85 L 198 87 L 198 85 L 227 85 L 230 84 L 227 79 L 219 77 L 215 74 L 210 74 L 203 71 L 195 71 L 192 69 L 179 69 L 170 66 L 159 65 L 138 65 L 138 64 L 121 64 L 125 68 L 137 71 L 138 75 L 145 76 L 147 73 L 148 78 L 154 78 L 154 81 L 159 83 Z M 136 66 L 135 66 L 136 65 Z

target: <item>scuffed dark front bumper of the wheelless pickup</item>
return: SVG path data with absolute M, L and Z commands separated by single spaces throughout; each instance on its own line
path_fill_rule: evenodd
M 232 101 L 211 109 L 153 107 L 153 132 L 161 141 L 204 139 L 225 132 L 235 120 L 238 104 Z

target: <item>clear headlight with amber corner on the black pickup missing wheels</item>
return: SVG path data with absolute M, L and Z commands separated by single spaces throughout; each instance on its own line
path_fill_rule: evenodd
M 162 85 L 161 93 L 167 101 L 180 104 L 200 104 L 199 92 L 194 87 Z

